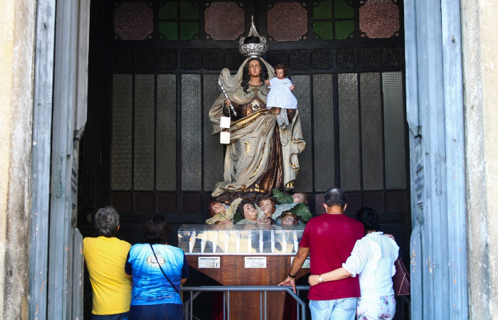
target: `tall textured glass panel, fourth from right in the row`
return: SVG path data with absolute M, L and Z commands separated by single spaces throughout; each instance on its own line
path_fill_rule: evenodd
M 313 127 L 314 189 L 327 191 L 335 181 L 333 75 L 313 76 Z

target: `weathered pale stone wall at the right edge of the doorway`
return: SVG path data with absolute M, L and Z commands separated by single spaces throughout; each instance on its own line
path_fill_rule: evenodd
M 462 0 L 469 314 L 498 319 L 498 8 Z

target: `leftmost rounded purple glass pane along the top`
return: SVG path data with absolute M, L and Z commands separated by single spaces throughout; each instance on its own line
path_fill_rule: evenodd
M 145 2 L 123 2 L 114 10 L 114 32 L 121 40 L 144 40 L 154 28 L 154 14 Z

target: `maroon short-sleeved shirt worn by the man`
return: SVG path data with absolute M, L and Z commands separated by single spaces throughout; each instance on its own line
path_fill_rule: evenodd
M 363 225 L 347 215 L 323 214 L 309 220 L 307 233 L 311 274 L 337 269 L 347 260 L 356 240 L 364 236 Z M 303 238 L 304 235 L 303 235 Z M 359 280 L 346 278 L 309 289 L 310 300 L 332 300 L 360 297 Z

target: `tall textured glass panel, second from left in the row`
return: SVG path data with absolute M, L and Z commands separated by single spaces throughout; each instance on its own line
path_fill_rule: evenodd
M 135 75 L 134 190 L 154 189 L 154 75 Z

